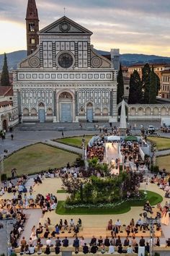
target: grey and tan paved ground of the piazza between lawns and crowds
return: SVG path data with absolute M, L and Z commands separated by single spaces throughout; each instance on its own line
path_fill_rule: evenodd
M 4 149 L 9 150 L 9 153 L 12 153 L 16 150 L 19 150 L 19 148 L 23 148 L 24 146 L 31 145 L 37 142 L 46 142 L 49 145 L 55 145 L 59 148 L 72 150 L 72 151 L 75 151 L 76 153 L 81 153 L 81 149 L 79 148 L 74 148 L 68 145 L 63 145 L 61 143 L 51 141 L 53 139 L 62 137 L 61 131 L 57 130 L 59 126 L 55 126 L 55 129 L 48 130 L 48 127 L 50 127 L 50 124 L 45 124 L 45 125 L 47 127 L 44 127 L 44 129 L 40 129 L 41 126 L 39 126 L 39 124 L 35 124 L 35 127 L 36 126 L 39 127 L 40 130 L 30 129 L 30 124 L 27 124 L 27 125 L 24 124 L 24 126 L 17 127 L 12 132 L 12 134 L 14 135 L 14 140 L 11 140 L 11 133 L 7 132 L 6 139 L 4 141 L 1 141 L 1 153 L 4 152 Z M 76 130 L 70 129 L 69 128 L 70 125 L 71 127 L 74 126 L 74 124 L 66 124 L 66 131 L 64 131 L 65 137 L 75 136 L 75 135 L 76 136 L 94 135 L 99 132 L 98 129 L 88 130 L 87 127 L 80 129 L 78 126 L 76 126 Z M 93 124 L 90 124 L 90 125 L 91 127 L 93 126 Z M 103 124 L 101 124 L 101 126 L 102 125 Z M 137 127 L 138 130 L 132 131 L 134 135 L 140 132 L 139 131 L 140 125 L 141 124 L 139 123 Z M 156 125 L 159 127 L 159 123 L 156 123 Z M 146 127 L 147 126 L 148 124 L 146 124 Z M 110 129 L 109 124 L 107 124 L 107 128 Z M 161 135 L 161 133 L 158 133 L 158 134 Z M 164 134 L 164 136 L 170 137 L 170 134 Z M 28 179 L 26 183 L 27 188 L 29 188 L 33 184 L 33 181 L 34 181 L 33 178 L 34 176 L 30 176 L 30 178 Z M 66 193 L 57 194 L 57 190 L 61 189 L 61 186 L 62 186 L 61 178 L 44 179 L 42 181 L 42 184 L 40 185 L 35 184 L 33 195 L 35 196 L 39 193 L 42 195 L 46 195 L 50 192 L 50 193 L 53 193 L 53 195 L 56 195 L 58 200 L 65 200 L 67 197 Z M 153 192 L 157 192 L 158 194 L 164 197 L 164 191 L 162 189 L 159 189 L 156 184 L 143 183 L 140 185 L 140 189 L 151 190 Z M 6 193 L 2 198 L 12 199 L 12 195 Z M 166 198 L 164 197 L 164 201 L 162 202 L 162 205 L 164 205 L 165 202 L 166 202 Z M 98 229 L 99 230 L 98 234 L 100 233 L 100 234 L 103 234 L 104 236 L 104 234 L 106 234 L 105 230 L 110 218 L 112 219 L 113 223 L 115 223 L 117 218 L 120 218 L 121 223 L 127 225 L 128 223 L 130 223 L 131 218 L 134 218 L 134 220 L 137 221 L 139 218 L 139 213 L 142 213 L 142 211 L 143 211 L 142 207 L 132 207 L 128 213 L 120 214 L 119 216 L 117 215 L 59 216 L 55 213 L 55 211 L 45 213 L 45 215 L 42 216 L 42 210 L 40 209 L 24 210 L 24 213 L 26 213 L 27 215 L 27 223 L 24 226 L 24 231 L 22 233 L 22 236 L 25 236 L 25 238 L 28 240 L 30 238 L 32 226 L 34 225 L 37 226 L 39 222 L 45 223 L 48 217 L 50 218 L 53 226 L 55 226 L 55 224 L 58 223 L 61 218 L 67 219 L 68 221 L 71 218 L 73 218 L 76 221 L 78 218 L 81 218 L 84 229 L 85 228 L 87 230 L 88 229 L 90 230 L 91 228 L 94 228 L 96 230 Z M 170 224 L 169 226 L 162 226 L 163 235 L 161 236 L 161 244 L 165 244 L 166 239 L 170 237 L 169 228 L 170 228 Z M 7 226 L 7 229 L 9 231 L 10 225 Z M 84 234 L 84 236 L 86 236 L 87 242 L 89 241 L 90 236 L 92 235 L 93 234 L 90 232 L 89 232 L 89 237 L 87 237 Z M 5 253 L 6 252 L 6 247 L 5 247 L 6 232 L 5 231 L 0 232 L 0 240 L 3 241 L 0 243 L 0 252 Z M 54 243 L 54 240 L 53 240 L 53 243 Z

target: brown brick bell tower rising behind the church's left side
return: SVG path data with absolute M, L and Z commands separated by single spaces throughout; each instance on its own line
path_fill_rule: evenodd
M 27 29 L 27 56 L 36 50 L 39 43 L 37 32 L 39 30 L 39 19 L 35 0 L 28 0 L 26 14 Z

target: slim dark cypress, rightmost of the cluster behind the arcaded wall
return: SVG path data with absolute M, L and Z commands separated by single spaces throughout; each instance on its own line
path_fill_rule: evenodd
M 156 95 L 157 95 L 157 77 L 152 67 L 152 70 L 150 73 L 149 102 L 148 102 L 149 104 L 156 103 Z

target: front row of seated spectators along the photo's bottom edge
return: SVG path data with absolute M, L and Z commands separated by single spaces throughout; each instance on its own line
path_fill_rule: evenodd
M 144 239 L 143 236 L 140 237 L 139 241 L 133 236 L 131 239 L 128 238 L 128 236 L 125 239 L 121 239 L 120 236 L 112 236 L 109 238 L 106 236 L 104 239 L 102 236 L 99 236 L 97 239 L 95 236 L 92 236 L 90 239 L 90 242 L 87 243 L 86 239 L 84 239 L 83 236 L 79 239 L 76 237 L 75 239 L 68 239 L 68 237 L 64 237 L 63 239 L 60 239 L 59 236 L 55 239 L 55 242 L 52 241 L 52 239 L 48 238 L 45 241 L 45 249 L 43 249 L 43 253 L 46 255 L 50 255 L 50 252 L 55 252 L 56 255 L 58 255 L 61 252 L 61 247 L 74 247 L 75 253 L 78 254 L 79 251 L 82 251 L 84 254 L 92 253 L 95 254 L 97 252 L 101 252 L 104 254 L 105 252 L 109 254 L 113 254 L 114 252 L 117 253 L 127 253 L 127 254 L 138 254 L 138 247 L 145 247 L 146 252 L 150 252 L 150 246 L 160 246 L 160 239 L 156 237 L 156 239 L 153 239 L 152 237 L 150 239 Z M 42 241 L 41 239 L 37 239 L 36 245 L 32 243 L 32 240 L 30 239 L 29 242 L 27 242 L 22 237 L 21 240 L 21 246 L 20 246 L 20 255 L 33 255 L 36 251 L 37 255 L 42 254 Z M 43 247 L 43 248 L 44 248 Z M 170 239 L 166 240 L 166 247 L 170 247 Z M 52 249 L 53 248 L 53 249 Z

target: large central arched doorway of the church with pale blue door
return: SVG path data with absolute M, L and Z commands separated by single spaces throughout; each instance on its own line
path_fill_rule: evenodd
M 61 122 L 73 121 L 73 97 L 71 93 L 63 92 L 59 95 L 59 114 Z

